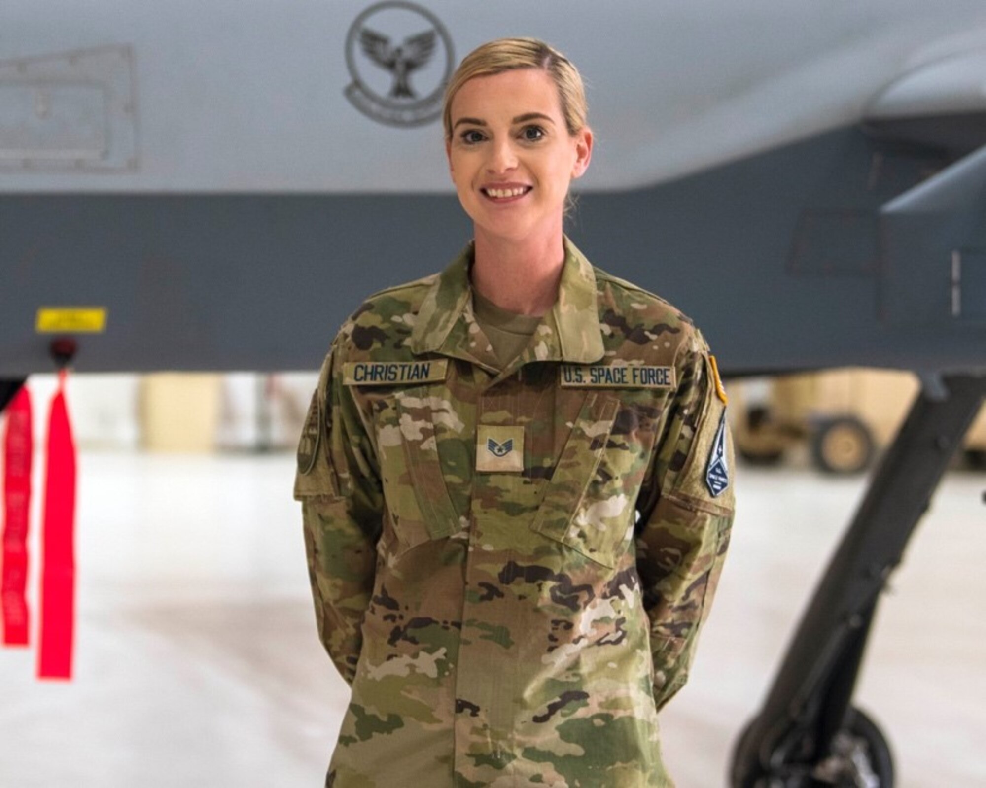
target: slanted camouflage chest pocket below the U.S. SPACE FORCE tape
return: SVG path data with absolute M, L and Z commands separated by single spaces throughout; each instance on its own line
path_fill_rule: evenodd
M 530 526 L 610 568 L 626 550 L 636 501 L 622 465 L 639 461 L 610 441 L 619 408 L 613 396 L 587 395 Z

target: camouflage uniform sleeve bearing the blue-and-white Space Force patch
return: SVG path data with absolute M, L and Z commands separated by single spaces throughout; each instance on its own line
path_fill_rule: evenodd
M 658 708 L 687 681 L 735 511 L 733 444 L 715 361 L 697 332 L 678 357 L 677 388 L 636 529 Z

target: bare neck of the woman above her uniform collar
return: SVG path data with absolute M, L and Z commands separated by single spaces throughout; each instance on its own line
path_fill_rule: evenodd
M 476 228 L 472 287 L 501 309 L 540 316 L 551 310 L 565 263 L 562 233 L 523 240 Z

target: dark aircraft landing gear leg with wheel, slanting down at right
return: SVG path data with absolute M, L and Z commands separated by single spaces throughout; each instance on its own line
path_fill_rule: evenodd
M 918 395 L 740 737 L 733 788 L 892 788 L 890 749 L 852 693 L 880 591 L 984 395 L 973 375 Z

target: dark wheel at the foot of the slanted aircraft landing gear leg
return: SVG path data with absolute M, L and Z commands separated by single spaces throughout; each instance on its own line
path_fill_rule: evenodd
M 816 784 L 837 788 L 893 788 L 893 755 L 877 723 L 850 708 L 832 740 L 831 755 L 812 776 Z

